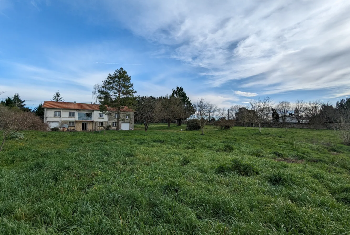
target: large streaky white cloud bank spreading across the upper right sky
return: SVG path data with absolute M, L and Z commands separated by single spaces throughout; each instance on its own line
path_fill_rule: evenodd
M 350 87 L 348 0 L 103 5 L 135 34 L 174 48 L 172 58 L 205 69 L 214 86 L 250 77 L 245 87 L 269 93 Z

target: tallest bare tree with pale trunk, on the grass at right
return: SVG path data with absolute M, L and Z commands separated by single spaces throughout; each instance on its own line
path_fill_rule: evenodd
M 259 123 L 259 132 L 261 132 L 261 123 L 271 120 L 271 107 L 274 105 L 273 100 L 269 96 L 264 99 L 253 99 L 250 101 L 251 110 L 256 114 L 252 116 L 253 122 Z

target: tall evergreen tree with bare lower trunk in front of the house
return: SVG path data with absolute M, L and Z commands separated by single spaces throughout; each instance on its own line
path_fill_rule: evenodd
M 109 74 L 102 85 L 95 85 L 97 89 L 97 98 L 100 101 L 100 111 L 106 112 L 107 107 L 115 108 L 118 113 L 117 131 L 119 130 L 120 109 L 125 106 L 131 108 L 135 105 L 136 97 L 134 94 L 134 83 L 122 67 L 116 69 L 113 74 Z M 94 92 L 96 94 L 96 92 Z

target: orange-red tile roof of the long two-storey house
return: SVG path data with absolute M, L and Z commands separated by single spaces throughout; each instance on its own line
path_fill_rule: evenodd
M 84 104 L 84 103 L 73 103 L 73 102 L 56 102 L 56 101 L 44 101 L 43 108 L 50 109 L 80 109 L 80 110 L 100 110 L 99 104 Z M 108 108 L 108 111 L 117 111 L 115 108 Z M 120 109 L 123 112 L 134 112 L 128 107 Z

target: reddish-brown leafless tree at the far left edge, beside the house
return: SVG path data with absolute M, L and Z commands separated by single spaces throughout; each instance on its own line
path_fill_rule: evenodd
M 8 109 L 0 105 L 0 131 L 2 131 L 2 141 L 0 151 L 5 141 L 13 134 L 21 130 L 41 130 L 47 131 L 48 125 L 31 112 L 23 112 L 19 109 Z

